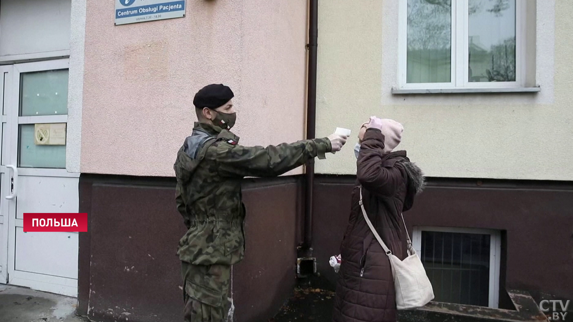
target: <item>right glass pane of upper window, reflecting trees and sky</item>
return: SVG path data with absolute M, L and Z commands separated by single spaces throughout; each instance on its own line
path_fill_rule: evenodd
M 515 0 L 469 0 L 469 81 L 515 81 Z

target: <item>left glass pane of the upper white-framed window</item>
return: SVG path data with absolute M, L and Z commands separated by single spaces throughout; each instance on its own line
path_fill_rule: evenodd
M 451 0 L 408 0 L 407 83 L 452 80 Z

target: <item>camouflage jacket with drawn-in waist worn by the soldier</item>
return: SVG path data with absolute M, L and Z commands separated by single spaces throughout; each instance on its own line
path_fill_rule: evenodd
M 187 233 L 179 240 L 180 260 L 195 265 L 232 265 L 245 254 L 245 176 L 277 176 L 332 149 L 328 139 L 278 146 L 244 147 L 233 133 L 195 123 L 174 164 L 175 200 Z

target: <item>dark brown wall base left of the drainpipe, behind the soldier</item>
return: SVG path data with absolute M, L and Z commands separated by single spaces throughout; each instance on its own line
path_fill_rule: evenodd
M 300 236 L 299 178 L 246 180 L 247 251 L 233 268 L 236 321 L 266 321 L 295 284 Z M 82 175 L 80 212 L 80 315 L 95 321 L 182 321 L 175 180 Z

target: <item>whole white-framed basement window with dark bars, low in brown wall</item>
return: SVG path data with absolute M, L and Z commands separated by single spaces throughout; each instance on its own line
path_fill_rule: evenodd
M 499 307 L 500 231 L 417 226 L 412 242 L 434 301 Z

